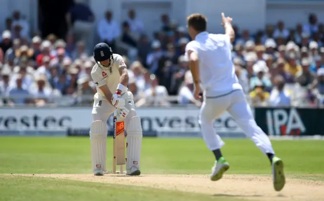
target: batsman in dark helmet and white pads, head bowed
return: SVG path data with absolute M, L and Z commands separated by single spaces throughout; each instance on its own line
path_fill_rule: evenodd
M 96 64 L 91 77 L 96 84 L 92 109 L 93 122 L 90 128 L 92 168 L 94 175 L 103 176 L 107 171 L 107 120 L 117 110 L 118 118 L 125 121 L 127 133 L 127 175 L 140 175 L 142 126 L 136 116 L 132 92 L 128 91 L 129 80 L 126 64 L 119 54 L 113 54 L 106 43 L 94 48 Z

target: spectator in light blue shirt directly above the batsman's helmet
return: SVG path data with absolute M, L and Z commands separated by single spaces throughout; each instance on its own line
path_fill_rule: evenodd
M 106 12 L 105 18 L 99 21 L 97 29 L 100 40 L 115 50 L 115 40 L 120 35 L 120 28 L 112 19 L 111 11 Z

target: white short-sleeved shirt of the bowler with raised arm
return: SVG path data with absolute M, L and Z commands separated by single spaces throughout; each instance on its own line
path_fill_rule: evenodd
M 228 35 L 200 32 L 186 45 L 199 58 L 200 87 L 207 96 L 218 96 L 241 89 L 235 75 Z

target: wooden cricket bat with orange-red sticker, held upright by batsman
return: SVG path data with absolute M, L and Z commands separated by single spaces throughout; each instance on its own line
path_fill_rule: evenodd
M 125 122 L 118 115 L 118 109 L 113 114 L 113 140 L 112 140 L 112 172 L 116 174 L 116 166 L 120 165 L 120 174 L 123 174 L 123 165 L 126 164 L 125 157 Z

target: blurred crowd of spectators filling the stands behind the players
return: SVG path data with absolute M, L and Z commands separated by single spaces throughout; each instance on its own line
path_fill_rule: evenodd
M 96 92 L 90 76 L 95 64 L 92 49 L 99 42 L 123 55 L 137 107 L 201 105 L 193 98 L 184 55 L 190 41 L 186 27 L 167 14 L 161 16 L 153 36 L 147 36 L 134 10 L 124 22 L 115 21 L 107 11 L 95 24 L 88 5 L 78 3 L 66 14 L 65 39 L 31 34 L 20 15 L 15 11 L 6 19 L 0 39 L 1 105 L 91 105 Z M 235 73 L 253 106 L 324 104 L 324 24 L 316 15 L 310 14 L 308 23 L 294 29 L 286 28 L 283 21 L 256 33 L 233 27 Z

